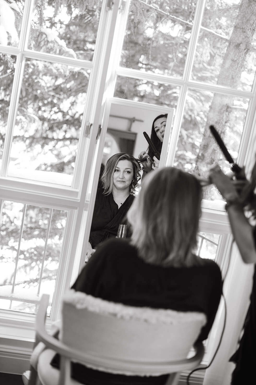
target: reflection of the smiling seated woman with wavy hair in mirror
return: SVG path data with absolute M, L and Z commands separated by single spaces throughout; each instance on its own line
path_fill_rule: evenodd
M 139 186 L 140 165 L 124 152 L 111 156 L 103 171 L 102 187 L 98 187 L 86 257 L 96 246 L 110 237 L 116 237 L 119 224 L 124 223 Z

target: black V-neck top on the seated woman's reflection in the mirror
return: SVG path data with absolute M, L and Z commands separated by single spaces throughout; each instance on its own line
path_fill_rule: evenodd
M 94 211 L 92 216 L 92 224 L 89 242 L 93 249 L 107 238 L 116 237 L 119 224 L 126 223 L 126 214 L 129 210 L 134 196 L 129 195 L 126 201 L 118 209 L 117 203 L 114 201 L 113 195 L 104 195 L 103 189 L 98 188 Z

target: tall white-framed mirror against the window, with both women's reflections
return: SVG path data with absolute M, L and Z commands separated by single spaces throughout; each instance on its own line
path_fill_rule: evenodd
M 156 119 L 164 116 L 164 123 Z M 86 260 L 104 240 L 116 237 L 120 224 L 126 224 L 126 214 L 135 193 L 139 189 L 142 176 L 139 154 L 146 152 L 148 143 L 144 132 L 151 136 L 152 123 L 161 128 L 160 161 L 164 166 L 170 138 L 173 109 L 136 103 L 120 99 L 110 99 L 106 103 L 102 121 L 99 151 L 102 151 L 101 171 L 97 184 L 96 200 L 92 215 L 91 231 L 86 252 Z M 157 137 L 157 126 L 154 126 Z M 155 159 L 152 156 L 152 159 Z M 153 159 L 153 160 L 154 160 Z M 127 237 L 130 229 L 127 226 Z

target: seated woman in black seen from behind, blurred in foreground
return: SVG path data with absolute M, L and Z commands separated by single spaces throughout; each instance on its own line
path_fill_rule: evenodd
M 127 214 L 131 238 L 103 242 L 72 288 L 130 306 L 202 312 L 207 323 L 198 341 L 205 340 L 219 306 L 222 280 L 214 261 L 193 253 L 201 197 L 193 175 L 174 167 L 152 172 Z M 167 379 L 115 375 L 77 363 L 73 373 L 88 385 L 155 385 Z

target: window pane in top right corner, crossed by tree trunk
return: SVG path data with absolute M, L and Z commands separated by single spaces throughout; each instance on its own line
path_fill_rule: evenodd
M 251 90 L 256 69 L 255 10 L 255 2 L 206 3 L 192 79 Z

